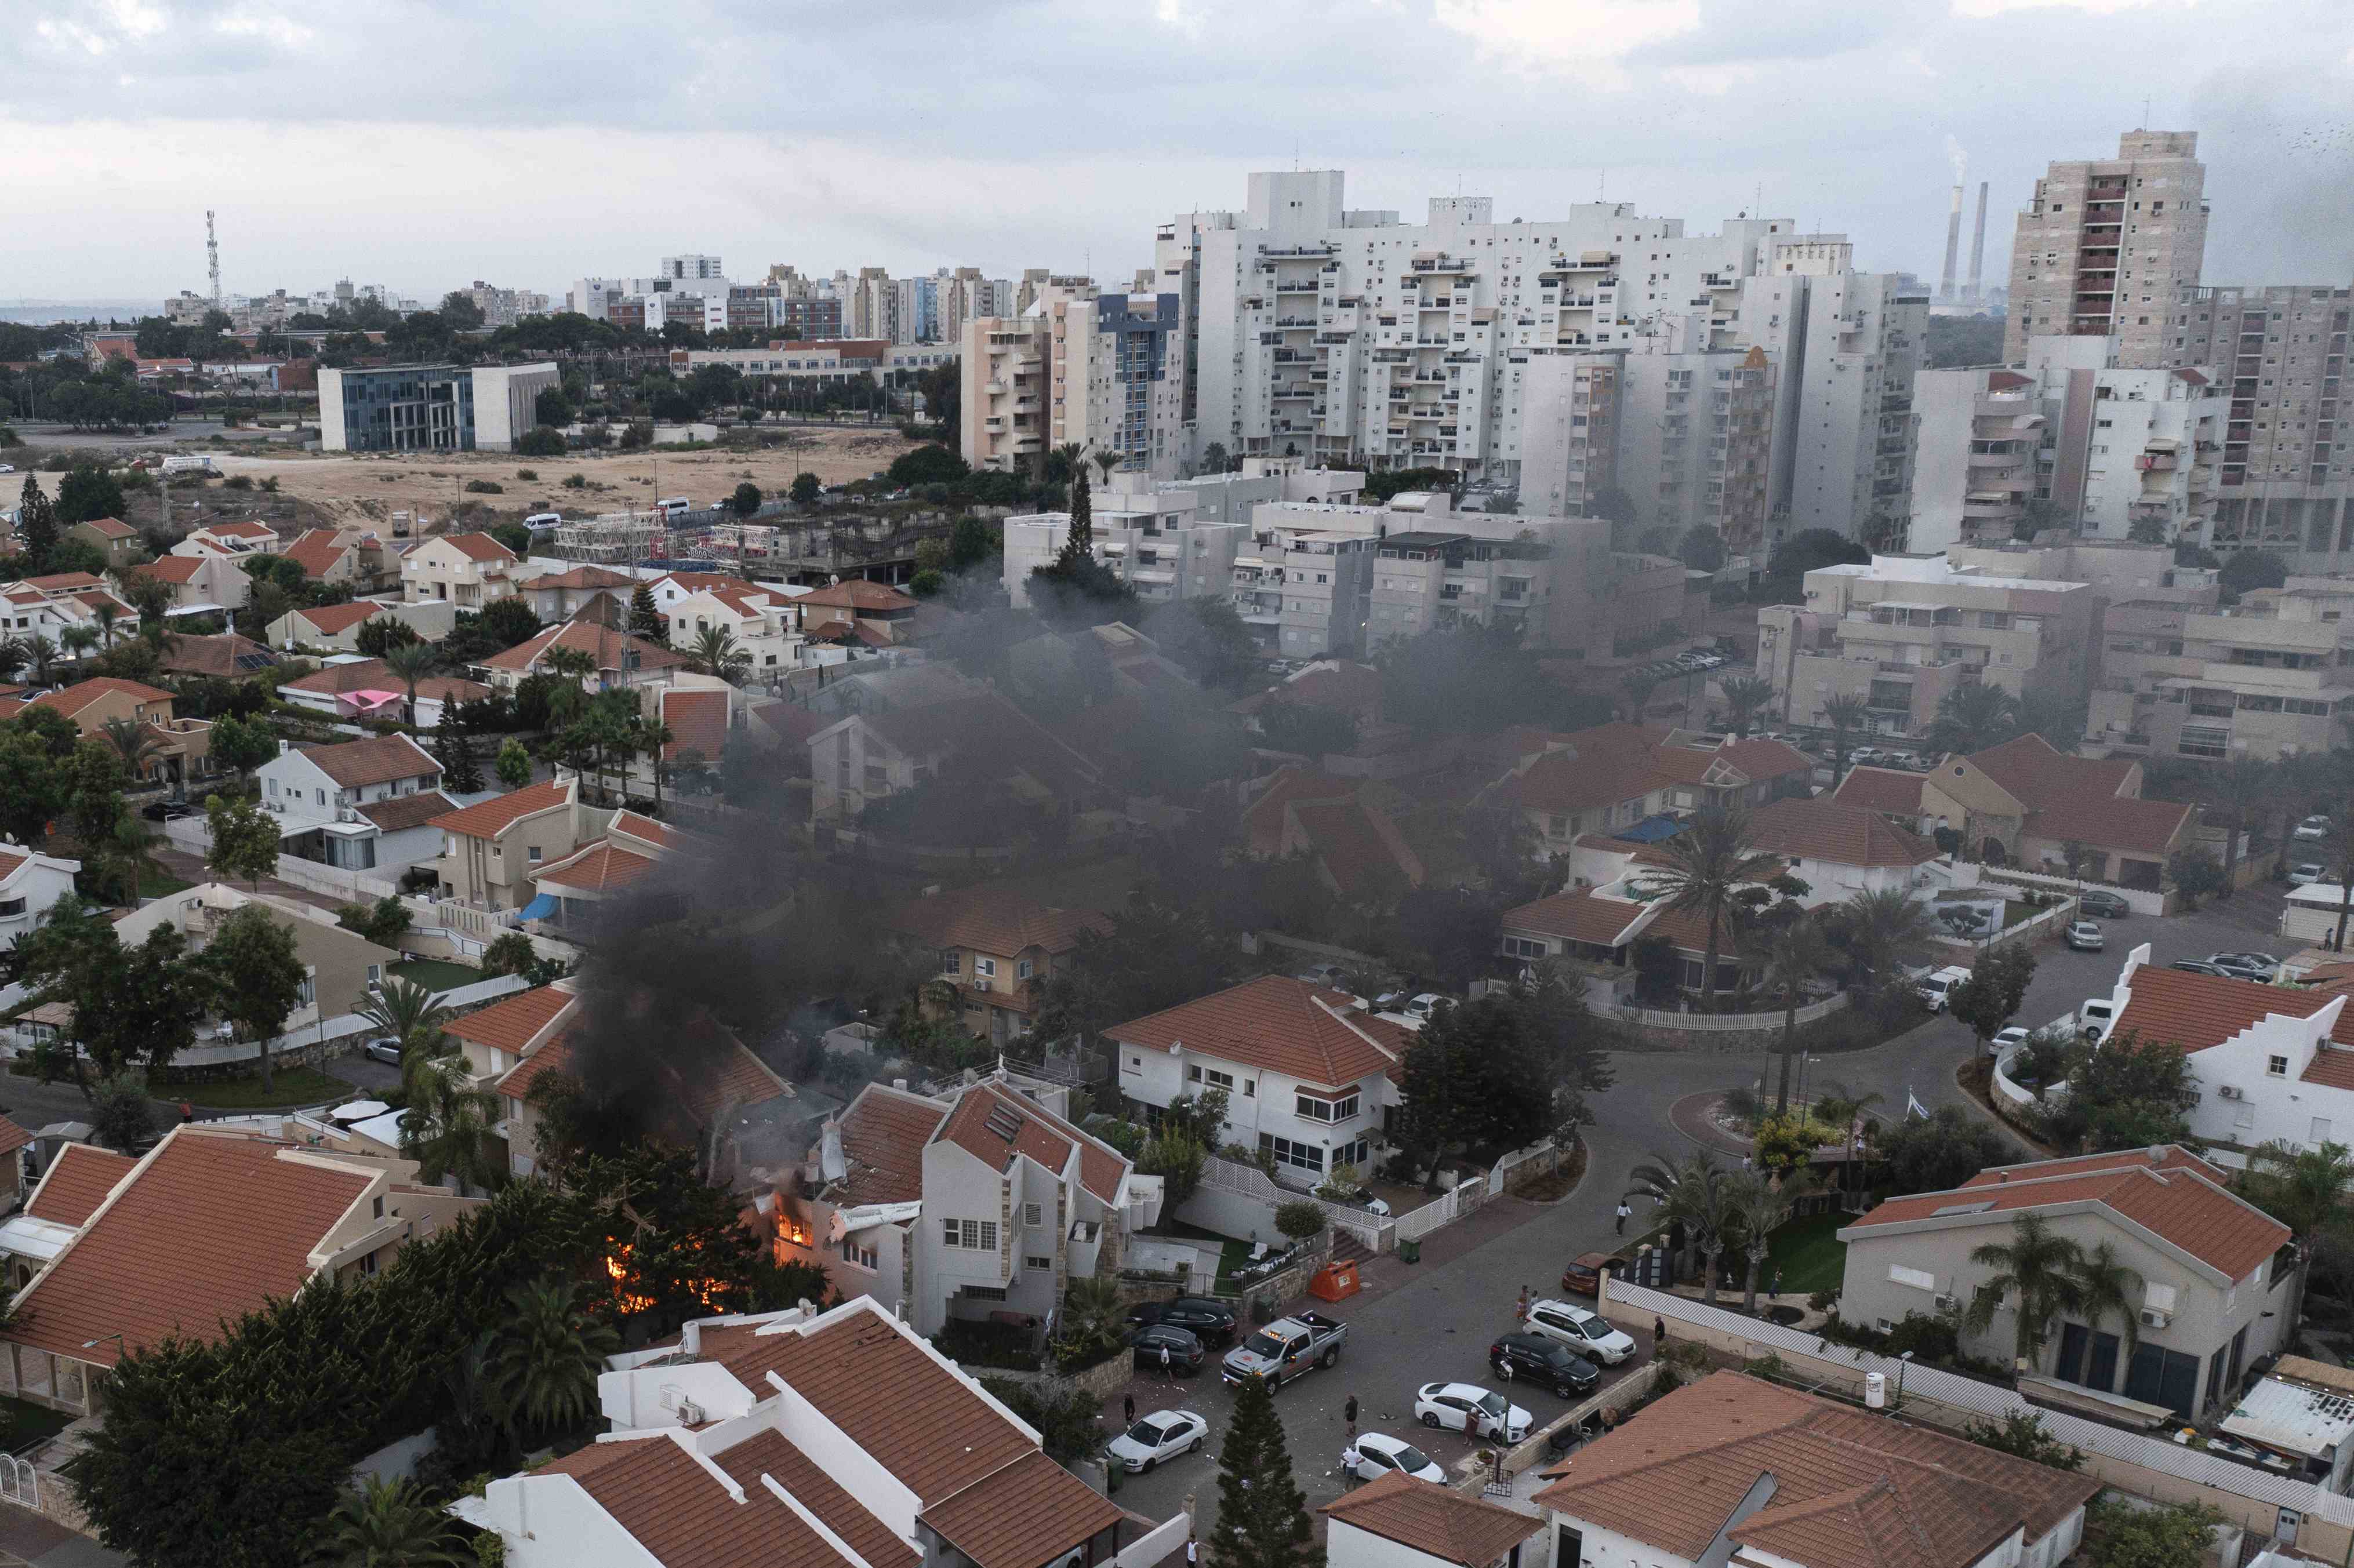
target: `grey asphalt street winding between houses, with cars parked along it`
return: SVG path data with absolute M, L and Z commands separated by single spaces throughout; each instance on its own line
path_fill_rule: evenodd
M 2104 954 L 2072 954 L 2057 942 L 2043 944 L 2036 949 L 2039 968 L 2020 1022 L 2046 1024 L 2074 1010 L 2086 996 L 2107 994 L 2137 942 L 2152 944 L 2156 963 L 2203 958 L 2225 949 L 2286 956 L 2288 944 L 2272 935 L 2279 913 L 2276 890 L 2250 888 L 2192 916 L 2114 921 L 2107 925 Z M 1973 1048 L 1970 1031 L 1940 1015 L 1874 1050 L 1817 1057 L 1808 1067 L 1808 1088 L 1836 1083 L 1848 1092 L 1878 1092 L 1883 1107 L 1895 1114 L 1904 1109 L 1907 1090 L 1930 1109 L 1968 1107 L 1973 1102 L 1954 1085 L 1954 1069 Z M 1558 1297 L 1561 1269 L 1570 1257 L 1615 1245 L 1610 1210 L 1627 1191 L 1629 1170 L 1653 1154 L 1674 1156 L 1690 1147 L 1667 1118 L 1676 1099 L 1756 1081 L 1770 1067 L 1773 1057 L 1761 1052 L 1620 1055 L 1617 1085 L 1598 1099 L 1598 1125 L 1587 1128 L 1587 1177 L 1575 1194 L 1549 1208 L 1499 1198 L 1424 1238 L 1419 1267 L 1396 1257 L 1372 1260 L 1365 1267 L 1365 1295 L 1325 1309 L 1349 1323 L 1339 1366 L 1276 1394 L 1309 1509 L 1342 1490 L 1339 1408 L 1351 1391 L 1361 1403 L 1358 1429 L 1408 1439 L 1448 1467 L 1469 1455 L 1474 1443 L 1452 1431 L 1415 1424 L 1415 1389 L 1424 1382 L 1462 1380 L 1502 1389 L 1535 1417 L 1537 1427 L 1561 1415 L 1565 1401 L 1525 1384 L 1499 1384 L 1488 1370 L 1488 1344 L 1511 1328 L 1521 1288 Z M 1643 1351 L 1650 1347 L 1643 1344 Z M 1638 1361 L 1622 1370 L 1605 1368 L 1603 1377 L 1608 1382 L 1634 1366 Z M 1168 1519 L 1191 1493 L 1198 1528 L 1208 1533 L 1217 1514 L 1217 1446 L 1233 1413 L 1231 1391 L 1219 1384 L 1215 1366 L 1175 1384 L 1137 1377 L 1130 1391 L 1139 1415 L 1189 1408 L 1210 1417 L 1210 1443 L 1198 1457 L 1175 1460 L 1149 1476 L 1128 1476 L 1121 1504 L 1151 1519 Z M 1111 1436 L 1118 1427 L 1121 1401 L 1113 1396 L 1104 1413 L 1104 1434 Z

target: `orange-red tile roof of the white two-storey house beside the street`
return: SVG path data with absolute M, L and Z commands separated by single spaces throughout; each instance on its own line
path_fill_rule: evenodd
M 1184 1043 L 1193 1055 L 1285 1074 L 1314 1088 L 1387 1076 L 1415 1038 L 1410 1029 L 1351 1010 L 1339 991 L 1288 975 L 1264 975 L 1106 1034 L 1144 1050 Z

